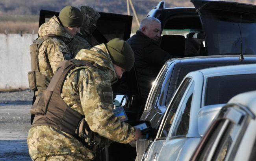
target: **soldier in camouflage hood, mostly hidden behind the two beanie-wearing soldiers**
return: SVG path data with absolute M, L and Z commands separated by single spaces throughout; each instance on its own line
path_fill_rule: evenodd
M 89 6 L 81 6 L 80 12 L 83 15 L 83 25 L 80 27 L 80 32 L 75 35 L 74 39 L 68 44 L 72 57 L 74 58 L 80 49 L 91 49 L 91 44 L 87 41 L 96 29 L 96 22 L 100 18 L 100 14 Z

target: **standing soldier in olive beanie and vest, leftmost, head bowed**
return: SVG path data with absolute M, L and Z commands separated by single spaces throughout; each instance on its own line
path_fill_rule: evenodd
M 37 58 L 32 58 L 36 60 L 32 60 L 32 72 L 29 72 L 28 76 L 29 84 L 32 85 L 30 88 L 35 91 L 32 103 L 35 97 L 47 88 L 48 83 L 57 70 L 57 66 L 63 62 L 63 60 L 73 58 L 67 44 L 70 43 L 74 35 L 79 33 L 79 27 L 82 26 L 82 23 L 83 15 L 79 9 L 66 6 L 60 11 L 58 17 L 53 16 L 48 22 L 45 22 L 39 27 L 39 38 L 37 38 L 35 42 L 40 40 L 44 41 L 37 50 Z M 37 69 L 34 69 L 35 76 L 32 74 L 33 68 Z M 31 117 L 31 122 L 32 121 L 33 115 Z

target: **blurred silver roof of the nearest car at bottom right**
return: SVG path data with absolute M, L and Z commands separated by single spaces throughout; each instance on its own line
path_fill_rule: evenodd
M 256 115 L 256 91 L 240 93 L 232 97 L 228 104 L 236 103 L 248 107 Z

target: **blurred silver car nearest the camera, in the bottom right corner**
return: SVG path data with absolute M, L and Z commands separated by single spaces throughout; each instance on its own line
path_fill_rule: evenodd
M 256 91 L 241 93 L 225 105 L 207 130 L 192 161 L 255 161 Z

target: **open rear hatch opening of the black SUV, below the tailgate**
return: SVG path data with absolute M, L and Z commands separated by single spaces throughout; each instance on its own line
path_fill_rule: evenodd
M 204 55 L 204 33 L 196 12 L 169 15 L 162 26 L 161 49 L 178 57 Z

